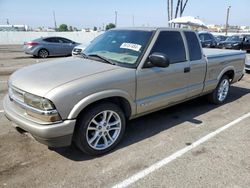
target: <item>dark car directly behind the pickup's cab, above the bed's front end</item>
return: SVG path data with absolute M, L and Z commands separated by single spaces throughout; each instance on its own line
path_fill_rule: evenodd
M 198 32 L 198 36 L 200 38 L 202 47 L 215 48 L 217 46 L 217 41 L 210 32 L 200 31 Z

